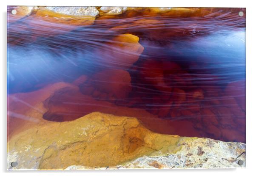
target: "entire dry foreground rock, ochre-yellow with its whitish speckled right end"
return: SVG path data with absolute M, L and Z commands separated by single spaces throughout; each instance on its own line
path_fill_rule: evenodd
M 243 143 L 161 135 L 136 118 L 97 112 L 34 126 L 8 145 L 9 169 L 13 161 L 15 169 L 226 168 L 239 167 L 235 158 L 245 151 Z

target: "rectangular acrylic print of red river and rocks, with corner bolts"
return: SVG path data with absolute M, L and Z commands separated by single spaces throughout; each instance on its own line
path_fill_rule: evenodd
M 245 8 L 7 14 L 9 169 L 245 167 Z

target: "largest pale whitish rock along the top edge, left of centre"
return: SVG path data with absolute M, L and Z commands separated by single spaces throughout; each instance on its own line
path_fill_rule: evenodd
M 71 16 L 97 16 L 99 11 L 95 7 L 73 7 L 73 6 L 47 6 L 45 9 L 54 11 L 58 14 Z

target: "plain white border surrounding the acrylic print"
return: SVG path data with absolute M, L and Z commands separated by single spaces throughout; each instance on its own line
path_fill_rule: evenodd
M 143 174 L 146 175 L 208 175 L 216 176 L 219 174 L 230 175 L 250 175 L 255 168 L 256 160 L 256 143 L 255 143 L 255 76 L 256 76 L 256 56 L 255 56 L 255 17 L 256 6 L 253 5 L 253 0 L 6 0 L 1 1 L 1 34 L 3 36 L 1 44 L 1 54 L 3 56 L 1 60 L 1 159 L 0 166 L 1 171 L 6 173 L 6 5 L 60 5 L 60 6 L 161 6 L 161 7 L 245 7 L 246 8 L 246 168 L 245 169 L 186 169 L 186 170 L 85 170 L 85 171 L 22 171 L 19 173 L 9 172 L 8 174 L 25 175 L 50 175 L 50 174 L 62 174 L 66 175 L 134 175 Z M 52 173 L 53 172 L 53 173 Z M 254 174 L 253 174 L 254 175 Z

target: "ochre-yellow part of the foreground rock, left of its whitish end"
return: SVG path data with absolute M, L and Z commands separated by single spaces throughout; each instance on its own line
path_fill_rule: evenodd
M 179 136 L 146 129 L 137 118 L 91 113 L 67 122 L 34 126 L 11 138 L 15 169 L 116 166 L 144 155 L 175 153 Z

